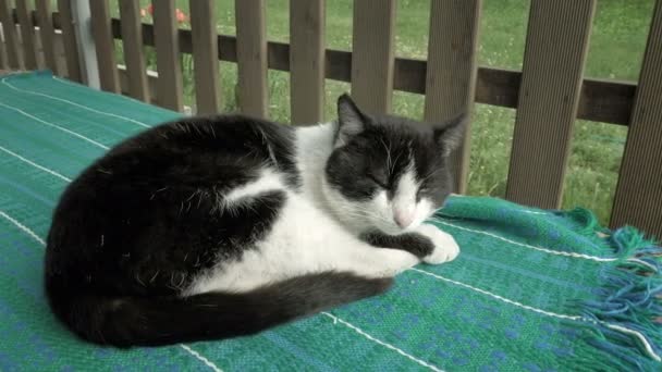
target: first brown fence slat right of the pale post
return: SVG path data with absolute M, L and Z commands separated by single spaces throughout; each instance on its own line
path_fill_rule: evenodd
M 108 0 L 89 0 L 91 14 L 91 32 L 97 49 L 99 64 L 99 82 L 101 89 L 120 92 L 115 47 L 112 38 L 110 10 Z

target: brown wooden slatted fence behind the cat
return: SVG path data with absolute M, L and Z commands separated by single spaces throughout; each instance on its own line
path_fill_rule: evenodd
M 0 64 L 35 69 L 35 26 L 46 65 L 82 82 L 84 61 L 74 32 L 72 3 L 0 0 Z M 633 224 L 662 237 L 662 0 L 654 5 L 638 84 L 584 77 L 597 0 L 531 0 L 523 71 L 477 66 L 481 0 L 433 0 L 428 61 L 394 55 L 395 0 L 354 3 L 352 52 L 326 49 L 324 1 L 291 0 L 291 44 L 268 41 L 265 0 L 236 0 L 236 37 L 217 35 L 214 1 L 191 0 L 192 29 L 177 29 L 174 0 L 154 1 L 154 25 L 142 24 L 137 1 L 120 0 L 120 18 L 107 0 L 89 0 L 100 86 L 145 101 L 182 110 L 180 53 L 193 54 L 200 112 L 218 112 L 219 60 L 237 63 L 242 112 L 266 116 L 268 69 L 290 72 L 292 122 L 322 120 L 324 79 L 352 83 L 358 103 L 389 112 L 393 90 L 426 95 L 430 122 L 470 111 L 473 102 L 516 109 L 506 198 L 559 208 L 576 119 L 628 127 L 616 187 L 612 226 Z M 81 20 L 78 20 L 81 22 Z M 56 62 L 53 32 L 62 36 L 66 72 Z M 21 45 L 19 39 L 22 40 Z M 114 60 L 121 39 L 126 67 Z M 143 46 L 157 50 L 158 77 L 145 69 Z M 0 65 L 2 67 L 2 65 Z M 156 88 L 149 87 L 150 82 Z M 154 97 L 156 94 L 156 97 Z M 454 154 L 456 189 L 466 188 L 470 138 Z

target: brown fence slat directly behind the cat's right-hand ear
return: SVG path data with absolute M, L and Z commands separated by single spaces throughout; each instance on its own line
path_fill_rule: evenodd
M 461 113 L 470 115 L 476 86 L 476 55 L 482 0 L 434 0 L 426 73 L 425 120 L 443 123 Z M 468 121 L 467 121 L 468 123 Z M 451 157 L 455 193 L 466 191 L 470 128 Z

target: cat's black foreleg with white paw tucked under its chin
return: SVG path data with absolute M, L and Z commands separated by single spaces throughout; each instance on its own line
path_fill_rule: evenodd
M 432 264 L 452 261 L 459 253 L 455 239 L 430 224 L 422 224 L 412 233 L 387 235 L 381 232 L 369 232 L 361 234 L 360 238 L 375 247 L 406 250 Z

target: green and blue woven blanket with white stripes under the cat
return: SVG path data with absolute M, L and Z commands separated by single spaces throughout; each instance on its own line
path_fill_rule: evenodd
M 179 115 L 49 73 L 0 78 L 1 371 L 662 370 L 660 248 L 583 209 L 474 197 L 450 198 L 432 221 L 458 259 L 420 264 L 381 297 L 253 337 L 131 350 L 78 340 L 41 286 L 58 196 L 109 147 Z

